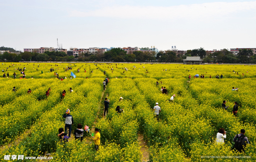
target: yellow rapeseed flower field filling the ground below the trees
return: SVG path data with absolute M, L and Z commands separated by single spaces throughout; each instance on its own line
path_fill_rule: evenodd
M 0 69 L 4 70 L 0 78 L 0 161 L 5 161 L 4 155 L 46 153 L 53 156 L 50 161 L 143 161 L 139 135 L 147 144 L 150 161 L 256 161 L 255 66 L 1 63 Z M 70 79 L 71 71 L 76 78 Z M 109 83 L 104 91 L 106 77 Z M 161 93 L 162 86 L 167 94 Z M 232 91 L 232 87 L 239 89 Z M 69 88 L 74 92 L 69 93 Z M 100 100 L 106 94 L 110 105 L 104 118 Z M 174 101 L 168 101 L 173 94 Z M 227 110 L 222 109 L 223 100 Z M 156 102 L 161 107 L 159 121 L 153 111 Z M 237 117 L 232 114 L 234 102 L 239 104 Z M 117 106 L 122 113 L 116 112 Z M 65 125 L 62 115 L 67 108 L 74 119 L 72 130 L 78 123 L 101 129 L 97 152 L 88 133 L 83 142 L 59 142 L 58 129 Z M 223 145 L 215 143 L 220 128 L 227 131 Z M 232 149 L 241 129 L 250 142 L 244 153 Z M 28 135 L 21 138 L 25 132 Z M 17 139 L 22 140 L 14 142 Z

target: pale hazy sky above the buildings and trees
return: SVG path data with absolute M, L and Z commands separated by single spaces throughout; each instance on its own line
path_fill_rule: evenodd
M 256 48 L 256 1 L 0 0 L 0 46 Z

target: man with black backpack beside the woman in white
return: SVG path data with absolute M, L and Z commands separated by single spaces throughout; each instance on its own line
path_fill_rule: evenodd
M 250 144 L 248 141 L 248 138 L 244 135 L 245 134 L 245 130 L 241 129 L 240 134 L 237 134 L 234 138 L 233 138 L 233 142 L 235 142 L 234 144 L 234 148 L 239 151 L 240 153 L 244 152 L 244 147 L 246 147 L 246 144 Z

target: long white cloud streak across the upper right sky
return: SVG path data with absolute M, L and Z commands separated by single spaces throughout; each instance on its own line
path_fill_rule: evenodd
M 171 18 L 209 18 L 225 16 L 233 13 L 256 9 L 254 2 L 214 2 L 170 7 L 158 6 L 108 6 L 95 10 L 70 12 L 70 17 L 116 17 L 116 18 L 144 18 L 144 19 L 171 19 Z

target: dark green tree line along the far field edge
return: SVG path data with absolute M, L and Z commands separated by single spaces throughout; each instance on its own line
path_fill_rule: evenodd
M 147 49 L 145 47 L 143 49 Z M 142 49 L 142 48 L 141 48 Z M 4 61 L 114 61 L 114 62 L 169 62 L 183 63 L 187 56 L 200 56 L 203 63 L 256 63 L 256 55 L 251 49 L 240 49 L 235 55 L 223 49 L 214 53 L 205 51 L 204 48 L 187 50 L 180 54 L 177 51 L 166 50 L 155 51 L 124 51 L 121 48 L 112 48 L 107 52 L 81 53 L 76 56 L 68 56 L 65 52 L 45 51 L 45 53 L 23 52 L 20 54 L 4 52 L 0 54 L 0 60 Z

